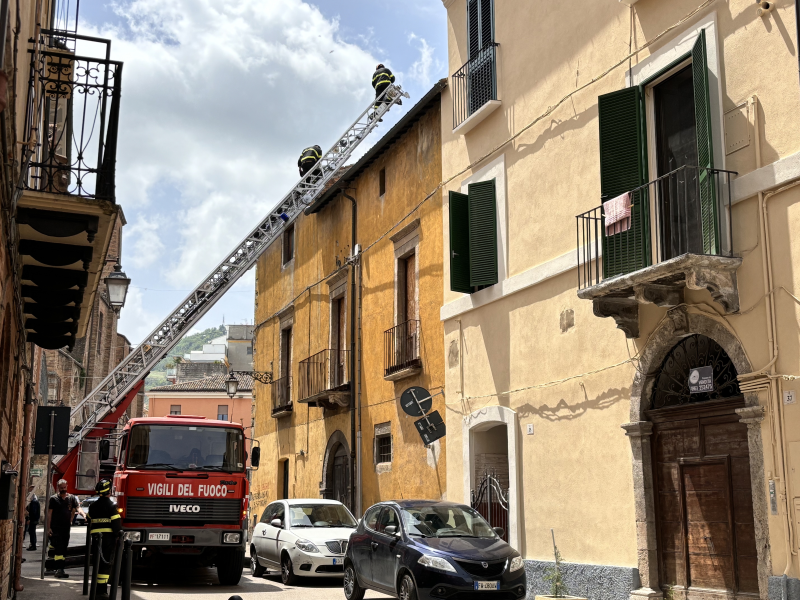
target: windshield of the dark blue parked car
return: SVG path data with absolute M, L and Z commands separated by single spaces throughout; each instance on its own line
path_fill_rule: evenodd
M 467 506 L 414 506 L 400 509 L 409 535 L 496 538 L 497 534 Z

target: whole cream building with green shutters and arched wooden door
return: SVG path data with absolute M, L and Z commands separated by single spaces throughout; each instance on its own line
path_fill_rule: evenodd
M 574 595 L 800 597 L 794 3 L 443 4 L 448 498 L 531 594 L 552 528 Z

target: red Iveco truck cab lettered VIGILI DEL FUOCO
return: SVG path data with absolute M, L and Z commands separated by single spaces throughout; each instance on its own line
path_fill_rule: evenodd
M 120 444 L 113 493 L 134 565 L 215 565 L 221 584 L 239 583 L 249 492 L 242 425 L 189 415 L 131 419 Z

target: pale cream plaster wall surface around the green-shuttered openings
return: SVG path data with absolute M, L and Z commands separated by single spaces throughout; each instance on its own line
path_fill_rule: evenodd
M 465 418 L 486 406 L 507 407 L 516 413 L 518 427 L 523 555 L 552 560 L 550 528 L 554 528 L 566 561 L 637 567 L 640 542 L 647 533 L 636 529 L 636 474 L 631 468 L 631 443 L 620 425 L 634 420 L 630 397 L 636 363 L 630 358 L 646 349 L 666 311 L 640 305 L 640 337 L 626 340 L 613 320 L 595 317 L 592 304 L 576 296 L 576 262 L 570 258 L 576 251 L 575 215 L 600 204 L 597 97 L 626 87 L 627 78 L 631 74 L 635 78 L 648 60 L 668 52 L 692 30 L 708 27 L 709 43 L 715 44 L 718 57 L 717 79 L 712 82 L 718 90 L 712 103 L 718 104 L 720 113 L 720 120 L 712 123 L 715 144 L 720 145 L 715 148 L 719 157 L 715 166 L 741 176 L 786 159 L 800 150 L 793 5 L 781 4 L 760 18 L 749 0 L 711 2 L 680 23 L 701 4 L 699 0 L 639 0 L 633 9 L 591 0 L 551 7 L 494 4 L 501 106 L 466 135 L 454 134 L 447 117 L 442 121 L 443 178 L 453 178 L 442 191 L 448 497 L 469 497 L 464 483 L 469 468 L 463 459 L 469 456 L 462 434 Z M 444 5 L 449 72 L 454 73 L 467 60 L 466 2 L 446 0 Z M 629 47 L 642 48 L 673 26 L 649 48 L 625 60 Z M 756 48 L 769 59 L 754 60 Z M 443 115 L 452 114 L 452 90 L 450 86 L 443 93 Z M 572 92 L 576 93 L 530 125 Z M 749 144 L 726 154 L 721 147 L 725 115 L 743 104 L 748 107 Z M 516 134 L 519 137 L 505 143 Z M 505 165 L 505 200 L 498 218 L 505 240 L 498 252 L 507 265 L 506 280 L 465 300 L 449 286 L 447 193 L 461 191 L 466 180 L 500 160 Z M 800 247 L 791 235 L 800 225 L 799 200 L 800 188 L 768 200 L 780 347 L 775 368 L 786 374 L 797 374 L 800 364 L 800 305 L 787 293 L 800 296 L 794 281 Z M 762 266 L 765 240 L 759 233 L 758 202 L 755 195 L 743 198 L 731 212 L 733 250 L 743 257 L 737 272 L 740 313 L 720 316 L 720 306 L 706 291 L 685 294 L 690 312 L 710 314 L 723 324 L 756 369 L 770 361 L 768 290 Z M 574 324 L 564 330 L 566 311 L 572 311 Z M 783 391 L 800 392 L 795 381 L 782 385 Z M 791 443 L 800 437 L 800 408 L 791 404 L 783 410 L 786 441 Z M 770 419 L 759 427 L 764 480 L 755 489 L 766 495 L 768 480 L 777 476 L 775 453 L 780 444 Z M 800 459 L 796 462 L 792 469 L 800 472 Z M 791 500 L 800 495 L 800 481 L 794 470 L 789 472 Z M 787 504 L 793 513 L 791 501 Z M 770 568 L 775 574 L 786 566 L 786 520 L 796 523 L 798 516 L 768 517 Z M 796 549 L 797 533 L 791 535 L 790 547 Z M 800 575 L 798 567 L 793 557 L 790 574 Z

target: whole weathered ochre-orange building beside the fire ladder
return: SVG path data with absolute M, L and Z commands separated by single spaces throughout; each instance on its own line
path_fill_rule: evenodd
M 415 208 L 441 181 L 445 85 L 258 261 L 254 362 L 274 381 L 255 389 L 256 518 L 278 498 L 338 499 L 360 516 L 379 500 L 444 497 L 443 442 L 424 445 L 399 398 L 443 387 L 441 206 Z M 433 410 L 443 416 L 441 394 Z

